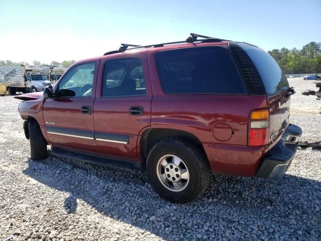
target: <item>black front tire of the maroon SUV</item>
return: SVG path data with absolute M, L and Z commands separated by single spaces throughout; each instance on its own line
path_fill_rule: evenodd
M 39 124 L 35 119 L 30 119 L 28 123 L 31 159 L 43 160 L 48 157 L 47 142 L 42 135 Z

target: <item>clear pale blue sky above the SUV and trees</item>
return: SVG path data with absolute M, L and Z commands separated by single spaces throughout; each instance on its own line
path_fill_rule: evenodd
M 5 1 L 0 60 L 79 60 L 198 33 L 264 50 L 321 42 L 321 0 Z

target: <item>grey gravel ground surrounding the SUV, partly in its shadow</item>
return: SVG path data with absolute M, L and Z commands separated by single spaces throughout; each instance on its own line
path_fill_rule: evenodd
M 290 79 L 291 122 L 301 140 L 321 139 L 312 81 Z M 190 204 L 159 198 L 145 172 L 50 156 L 30 160 L 20 100 L 0 97 L 0 237 L 16 240 L 320 240 L 321 151 L 298 150 L 278 179 L 211 176 Z M 313 124 L 318 124 L 318 126 Z M 18 229 L 18 231 L 16 231 Z

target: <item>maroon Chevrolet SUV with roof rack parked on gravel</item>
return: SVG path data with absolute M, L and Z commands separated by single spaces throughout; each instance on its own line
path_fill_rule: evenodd
M 198 39 L 198 37 L 202 37 Z M 131 47 L 131 48 L 128 48 Z M 294 93 L 257 46 L 191 34 L 74 63 L 54 89 L 16 98 L 31 158 L 51 154 L 111 168 L 146 168 L 154 190 L 186 203 L 211 173 L 278 177 L 302 131 Z

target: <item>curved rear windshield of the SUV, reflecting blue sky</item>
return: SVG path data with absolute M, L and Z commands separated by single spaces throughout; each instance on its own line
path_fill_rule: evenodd
M 245 43 L 237 43 L 252 59 L 263 80 L 267 94 L 273 94 L 289 87 L 286 76 L 271 55 L 263 49 Z

